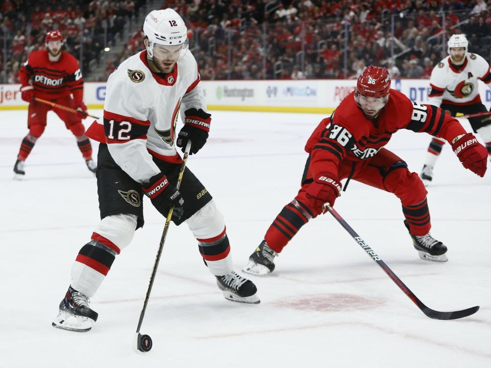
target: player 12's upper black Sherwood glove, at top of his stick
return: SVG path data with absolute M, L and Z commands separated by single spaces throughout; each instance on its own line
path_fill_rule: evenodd
M 191 152 L 189 154 L 194 154 L 203 148 L 208 139 L 211 114 L 202 109 L 196 110 L 195 108 L 184 111 L 184 114 L 186 119 L 183 128 L 177 135 L 176 146 L 182 147 L 184 152 L 188 140 L 191 140 Z

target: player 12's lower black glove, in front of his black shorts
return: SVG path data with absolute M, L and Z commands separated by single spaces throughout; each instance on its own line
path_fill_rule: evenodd
M 152 201 L 153 206 L 165 217 L 169 214 L 171 206 L 174 206 L 173 221 L 177 221 L 183 216 L 184 198 L 164 174 L 153 175 L 148 182 L 142 184 L 142 189 Z

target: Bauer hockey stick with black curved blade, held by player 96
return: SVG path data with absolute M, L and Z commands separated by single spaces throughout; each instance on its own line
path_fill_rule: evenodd
M 384 261 L 373 251 L 372 248 L 368 246 L 367 243 L 358 235 L 356 232 L 348 225 L 348 223 L 341 217 L 341 215 L 334 210 L 329 203 L 326 203 L 327 210 L 330 214 L 344 227 L 344 229 L 351 235 L 351 237 L 356 240 L 356 242 L 367 252 L 367 254 L 376 262 L 378 265 L 387 273 L 387 275 L 392 279 L 392 281 L 404 291 L 404 293 L 409 296 L 409 298 L 413 301 L 417 307 L 425 313 L 428 317 L 434 319 L 458 319 L 470 316 L 471 314 L 476 313 L 479 310 L 479 306 L 455 311 L 455 312 L 439 312 L 428 308 L 424 305 L 416 295 L 413 294 L 411 290 L 397 277 L 397 275 L 385 264 Z

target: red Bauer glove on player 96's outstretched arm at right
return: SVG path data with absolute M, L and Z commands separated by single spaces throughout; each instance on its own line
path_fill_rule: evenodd
M 487 150 L 477 141 L 474 134 L 465 134 L 452 144 L 452 149 L 464 168 L 481 177 L 484 176 L 487 166 Z

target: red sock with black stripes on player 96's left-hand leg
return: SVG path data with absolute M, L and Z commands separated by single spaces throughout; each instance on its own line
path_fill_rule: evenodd
M 264 239 L 271 249 L 279 253 L 292 240 L 300 228 L 313 216 L 306 205 L 294 199 L 283 207 L 267 229 Z

